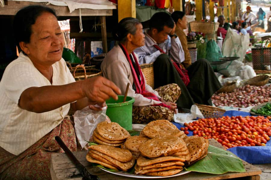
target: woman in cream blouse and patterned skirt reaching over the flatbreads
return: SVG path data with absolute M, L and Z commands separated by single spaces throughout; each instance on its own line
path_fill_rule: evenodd
M 94 105 L 104 107 L 120 89 L 104 77 L 75 82 L 54 10 L 25 7 L 13 25 L 21 52 L 0 82 L 0 179 L 51 179 L 51 154 L 63 152 L 55 136 L 76 151 L 70 107 L 101 110 Z

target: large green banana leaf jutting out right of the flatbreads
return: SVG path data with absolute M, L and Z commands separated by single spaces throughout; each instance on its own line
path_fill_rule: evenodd
M 240 158 L 233 153 L 209 145 L 207 156 L 200 161 L 184 168 L 188 171 L 210 174 L 224 174 L 227 172 L 245 172 Z

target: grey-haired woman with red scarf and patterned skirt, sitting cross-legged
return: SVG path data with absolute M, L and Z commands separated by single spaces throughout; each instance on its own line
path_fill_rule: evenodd
M 145 44 L 142 24 L 138 19 L 122 19 L 113 33 L 119 45 L 111 49 L 101 64 L 104 77 L 113 81 L 124 95 L 129 83 L 128 96 L 135 98 L 132 109 L 133 123 L 148 123 L 157 119 L 173 120 L 175 102 L 181 91 L 178 85 L 169 84 L 153 90 L 146 84 L 139 67 L 138 56 L 133 52 Z

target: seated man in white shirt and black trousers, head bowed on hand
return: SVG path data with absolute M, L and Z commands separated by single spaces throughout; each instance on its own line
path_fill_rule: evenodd
M 193 64 L 191 61 L 183 63 L 184 51 L 175 27 L 168 13 L 159 12 L 151 17 L 149 29 L 144 29 L 145 45 L 134 50 L 139 64 L 154 62 L 154 88 L 171 83 L 179 85 L 182 94 L 176 102 L 178 108 L 190 109 L 194 103 L 212 105 L 210 98 L 221 84 L 206 59 L 198 59 Z M 182 72 L 188 73 L 190 82 L 180 75 L 176 63 Z

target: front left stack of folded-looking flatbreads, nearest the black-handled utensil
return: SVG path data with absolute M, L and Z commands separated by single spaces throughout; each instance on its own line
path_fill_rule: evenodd
M 87 161 L 101 164 L 104 167 L 127 171 L 135 164 L 132 154 L 128 149 L 120 149 L 107 145 L 89 146 L 89 152 L 86 155 Z

